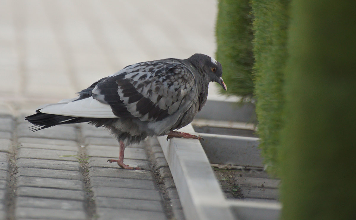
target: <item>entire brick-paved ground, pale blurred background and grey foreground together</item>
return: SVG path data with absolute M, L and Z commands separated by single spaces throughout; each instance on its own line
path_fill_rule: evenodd
M 155 138 L 117 158 L 109 132 L 23 117 L 135 62 L 213 56 L 216 2 L 0 1 L 0 219 L 184 219 Z

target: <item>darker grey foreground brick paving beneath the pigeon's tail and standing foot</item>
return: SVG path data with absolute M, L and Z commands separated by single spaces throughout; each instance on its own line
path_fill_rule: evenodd
M 179 200 L 164 195 L 177 194 L 174 183 L 159 183 L 171 176 L 154 140 L 126 148 L 125 162 L 145 169 L 131 171 L 106 163 L 118 146 L 99 128 L 0 123 L 0 219 L 183 219 Z

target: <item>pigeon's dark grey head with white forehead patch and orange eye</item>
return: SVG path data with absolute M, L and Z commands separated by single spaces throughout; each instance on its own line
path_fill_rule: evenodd
M 204 54 L 194 54 L 188 60 L 208 76 L 209 82 L 219 83 L 226 91 L 226 84 L 221 77 L 223 75 L 223 67 L 220 62 Z

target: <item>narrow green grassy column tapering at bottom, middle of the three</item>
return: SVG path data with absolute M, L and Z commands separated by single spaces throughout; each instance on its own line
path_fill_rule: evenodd
M 256 83 L 256 113 L 259 147 L 267 170 L 277 173 L 279 132 L 284 104 L 284 66 L 287 59 L 287 0 L 251 0 L 253 20 L 253 54 Z

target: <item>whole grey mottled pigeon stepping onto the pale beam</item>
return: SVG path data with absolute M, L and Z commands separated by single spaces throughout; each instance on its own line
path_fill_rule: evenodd
M 105 127 L 119 141 L 119 158 L 109 159 L 124 169 L 125 147 L 151 136 L 201 139 L 176 131 L 193 121 L 208 97 L 209 82 L 226 90 L 221 64 L 210 56 L 139 62 L 91 84 L 73 99 L 47 104 L 25 117 L 32 131 L 55 125 L 89 122 Z

